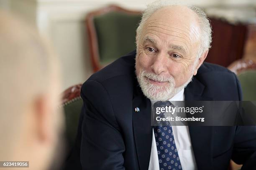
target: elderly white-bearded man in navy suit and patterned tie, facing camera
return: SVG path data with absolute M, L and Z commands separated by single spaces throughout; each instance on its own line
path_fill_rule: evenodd
M 136 52 L 82 86 L 82 169 L 224 170 L 230 159 L 255 168 L 255 127 L 172 126 L 169 140 L 161 142 L 151 126 L 153 100 L 241 100 L 232 72 L 202 65 L 210 43 L 210 23 L 200 8 L 149 5 L 137 29 Z

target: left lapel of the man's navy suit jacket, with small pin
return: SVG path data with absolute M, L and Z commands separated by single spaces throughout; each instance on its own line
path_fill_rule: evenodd
M 152 145 L 151 102 L 144 97 L 138 86 L 134 88 L 136 89 L 133 96 L 133 134 L 139 167 L 146 170 Z M 139 112 L 135 111 L 135 107 L 139 108 Z

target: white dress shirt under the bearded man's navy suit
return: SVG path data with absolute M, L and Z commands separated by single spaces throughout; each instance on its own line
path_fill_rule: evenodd
M 184 101 L 184 89 L 172 97 L 169 101 Z M 152 103 L 152 102 L 151 102 Z M 182 170 L 197 170 L 195 156 L 191 145 L 188 126 L 172 126 L 175 145 L 178 151 Z M 170 160 L 171 161 L 171 160 Z M 158 154 L 156 148 L 156 139 L 152 135 L 151 155 L 148 170 L 159 170 Z

